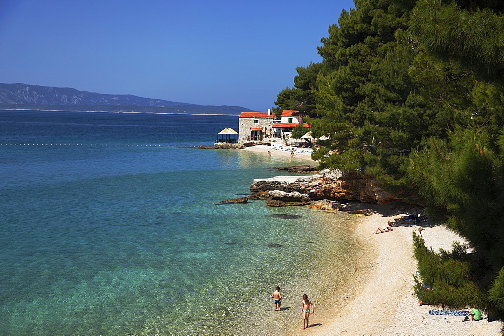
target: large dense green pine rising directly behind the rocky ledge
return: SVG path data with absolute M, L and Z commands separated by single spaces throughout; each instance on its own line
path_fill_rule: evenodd
M 314 136 L 331 141 L 313 157 L 322 166 L 359 170 L 408 199 L 408 153 L 429 136 L 446 137 L 465 111 L 473 77 L 425 52 L 406 31 L 411 6 L 362 0 L 343 11 L 319 48 L 324 73 L 316 90 Z M 332 153 L 331 155 L 329 155 Z

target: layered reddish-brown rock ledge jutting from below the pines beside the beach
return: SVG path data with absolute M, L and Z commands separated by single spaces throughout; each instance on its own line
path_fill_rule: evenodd
M 279 177 L 280 178 L 280 177 Z M 255 180 L 250 186 L 250 198 L 272 198 L 272 191 L 297 192 L 309 200 L 348 200 L 389 204 L 397 199 L 380 187 L 374 177 L 358 172 L 323 171 L 321 174 L 297 178 L 294 182 Z M 273 199 L 273 198 L 272 198 Z

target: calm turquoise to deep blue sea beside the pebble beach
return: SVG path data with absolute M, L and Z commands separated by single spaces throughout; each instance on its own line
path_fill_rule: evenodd
M 0 330 L 283 333 L 352 274 L 352 217 L 248 193 L 302 163 L 211 145 L 237 116 L 0 111 Z M 278 214 L 299 218 L 283 219 Z M 268 244 L 281 244 L 269 247 Z M 270 298 L 282 288 L 282 312 Z

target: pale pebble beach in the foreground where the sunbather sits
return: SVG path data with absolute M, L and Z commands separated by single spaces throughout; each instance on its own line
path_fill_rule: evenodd
M 369 206 L 359 205 L 361 209 Z M 371 209 L 379 212 L 364 217 L 357 228 L 360 239 L 370 243 L 370 272 L 358 278 L 349 303 L 316 311 L 320 316 L 310 318 L 310 324 L 316 325 L 294 334 L 499 334 L 498 321 L 463 322 L 463 317 L 429 315 L 428 310 L 436 308 L 418 306 L 411 295 L 415 272 L 411 234 L 418 225 L 396 226 L 392 232 L 371 235 L 376 227 L 397 217 L 397 212 L 390 216 L 390 206 L 374 205 Z M 453 240 L 460 240 L 442 226 L 426 227 L 422 235 L 434 250 L 450 249 Z

